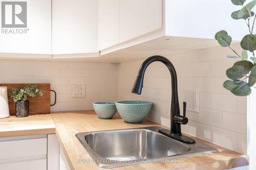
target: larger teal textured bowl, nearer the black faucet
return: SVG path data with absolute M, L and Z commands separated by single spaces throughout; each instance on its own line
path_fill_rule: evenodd
M 120 101 L 116 102 L 116 108 L 124 122 L 136 124 L 150 113 L 152 102 L 147 101 Z

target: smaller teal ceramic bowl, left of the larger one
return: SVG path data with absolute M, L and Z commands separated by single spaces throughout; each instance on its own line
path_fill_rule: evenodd
M 116 113 L 114 102 L 94 102 L 93 108 L 99 118 L 112 118 Z

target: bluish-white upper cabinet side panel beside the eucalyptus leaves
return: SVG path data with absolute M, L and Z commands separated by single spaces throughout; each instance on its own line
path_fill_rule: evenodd
M 241 8 L 223 0 L 165 0 L 165 35 L 214 39 L 218 31 L 226 30 L 240 41 L 248 28 L 243 19 L 232 19 L 231 13 Z

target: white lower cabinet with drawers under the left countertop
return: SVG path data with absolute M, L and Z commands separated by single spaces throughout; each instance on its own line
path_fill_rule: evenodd
M 56 135 L 0 138 L 0 169 L 59 169 L 59 143 Z

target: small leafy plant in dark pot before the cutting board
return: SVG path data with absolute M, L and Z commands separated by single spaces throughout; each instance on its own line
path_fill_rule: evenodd
M 44 94 L 35 84 L 23 84 L 12 89 L 9 93 L 10 100 L 16 105 L 16 117 L 26 117 L 29 115 L 28 97 L 42 97 Z

